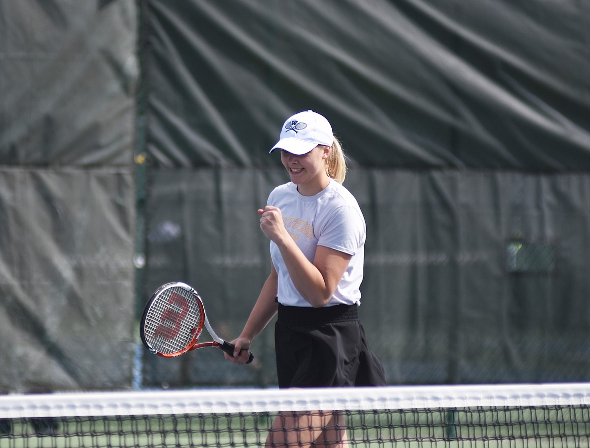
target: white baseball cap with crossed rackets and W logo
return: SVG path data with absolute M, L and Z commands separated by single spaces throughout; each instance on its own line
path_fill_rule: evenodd
M 333 141 L 334 135 L 329 121 L 313 110 L 308 110 L 287 118 L 281 129 L 280 140 L 269 153 L 283 149 L 302 156 L 319 144 L 332 146 Z

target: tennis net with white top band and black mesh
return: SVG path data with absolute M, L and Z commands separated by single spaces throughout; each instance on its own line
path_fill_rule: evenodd
M 0 447 L 588 447 L 590 383 L 0 397 Z M 313 439 L 313 443 L 312 443 Z

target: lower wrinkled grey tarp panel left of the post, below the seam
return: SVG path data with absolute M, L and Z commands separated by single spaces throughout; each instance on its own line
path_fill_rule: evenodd
M 128 387 L 133 175 L 0 170 L 0 390 Z

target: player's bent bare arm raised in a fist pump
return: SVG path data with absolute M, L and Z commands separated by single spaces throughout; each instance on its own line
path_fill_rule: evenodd
M 285 229 L 280 209 L 267 206 L 264 210 L 258 210 L 258 213 L 261 215 L 260 228 L 281 251 L 291 281 L 299 294 L 312 307 L 326 305 L 336 291 L 352 256 L 317 246 L 312 263 Z

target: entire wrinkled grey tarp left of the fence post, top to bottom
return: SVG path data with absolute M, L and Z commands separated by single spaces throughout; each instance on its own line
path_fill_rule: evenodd
M 0 393 L 129 387 L 135 0 L 0 0 Z

